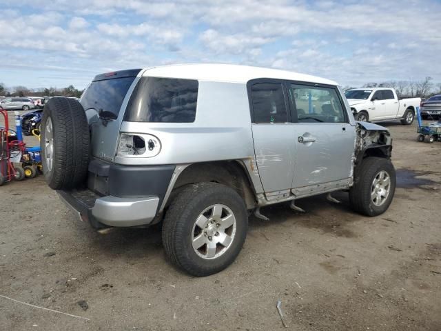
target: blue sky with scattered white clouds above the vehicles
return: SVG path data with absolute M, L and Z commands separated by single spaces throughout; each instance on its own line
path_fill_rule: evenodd
M 0 82 L 84 88 L 167 63 L 283 68 L 359 86 L 441 81 L 440 0 L 0 0 Z

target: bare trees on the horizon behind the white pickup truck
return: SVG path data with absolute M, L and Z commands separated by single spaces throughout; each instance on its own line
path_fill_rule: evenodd
M 426 77 L 422 81 L 383 81 L 382 83 L 365 83 L 362 88 L 394 88 L 398 97 L 429 98 L 435 94 L 441 94 L 441 83 L 434 84 L 432 77 Z M 351 86 L 345 86 L 343 90 L 350 90 Z

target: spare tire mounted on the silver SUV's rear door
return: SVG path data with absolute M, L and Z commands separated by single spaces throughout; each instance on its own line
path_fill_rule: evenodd
M 79 101 L 54 97 L 45 103 L 40 146 L 43 174 L 50 188 L 69 190 L 85 181 L 90 134 Z

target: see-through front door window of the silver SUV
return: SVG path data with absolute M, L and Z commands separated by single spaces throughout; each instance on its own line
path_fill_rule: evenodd
M 291 84 L 289 98 L 299 123 L 343 123 L 345 112 L 334 88 Z M 294 119 L 296 114 L 292 114 Z

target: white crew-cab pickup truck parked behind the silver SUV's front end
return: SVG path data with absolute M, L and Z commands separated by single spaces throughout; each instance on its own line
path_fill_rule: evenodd
M 393 88 L 353 88 L 345 95 L 353 117 L 366 122 L 400 119 L 409 126 L 421 103 L 420 98 L 399 99 Z

